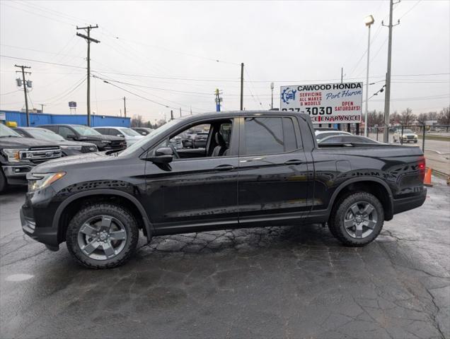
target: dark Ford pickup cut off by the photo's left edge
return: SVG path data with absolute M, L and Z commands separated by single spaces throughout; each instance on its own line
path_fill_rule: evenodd
M 0 124 L 0 193 L 8 185 L 26 185 L 26 174 L 41 162 L 61 157 L 57 143 L 24 138 Z

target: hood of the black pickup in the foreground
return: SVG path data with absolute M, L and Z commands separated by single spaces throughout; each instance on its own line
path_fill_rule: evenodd
M 115 160 L 117 157 L 105 155 L 104 152 L 84 153 L 81 155 L 72 155 L 69 157 L 59 157 L 58 159 L 42 162 L 42 164 L 33 167 L 31 172 L 49 173 L 49 172 L 69 172 L 76 168 L 87 169 L 89 165 L 100 165 L 105 161 Z

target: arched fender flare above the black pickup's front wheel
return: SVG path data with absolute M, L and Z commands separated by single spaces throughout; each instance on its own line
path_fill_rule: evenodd
M 134 198 L 131 194 L 128 194 L 124 191 L 117 191 L 115 189 L 93 189 L 91 191 L 84 191 L 79 192 L 77 194 L 74 194 L 73 196 L 70 196 L 66 200 L 64 200 L 61 205 L 58 206 L 56 212 L 54 213 L 52 227 L 55 230 L 59 230 L 59 220 L 61 219 L 61 215 L 64 212 L 65 208 L 69 206 L 69 204 L 76 199 L 84 198 L 86 196 L 96 196 L 96 195 L 105 195 L 105 196 L 121 196 L 122 198 L 125 198 L 129 200 L 131 203 L 136 206 L 137 210 L 139 210 L 139 213 L 142 216 L 142 220 L 144 220 L 144 226 L 147 233 L 147 242 L 150 242 L 152 231 L 154 230 L 153 225 L 151 225 L 151 222 L 149 220 L 149 217 L 147 216 L 146 211 L 144 210 L 144 207 L 142 207 L 142 203 L 140 203 L 137 198 Z

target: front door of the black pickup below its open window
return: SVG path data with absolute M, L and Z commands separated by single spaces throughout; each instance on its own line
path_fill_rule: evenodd
M 146 172 L 146 206 L 155 228 L 237 223 L 237 156 L 149 162 Z

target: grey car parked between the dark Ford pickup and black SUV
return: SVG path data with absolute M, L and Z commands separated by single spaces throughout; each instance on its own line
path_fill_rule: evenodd
M 82 153 L 97 152 L 97 146 L 93 143 L 83 143 L 82 141 L 68 141 L 57 133 L 49 129 L 41 129 L 40 127 L 16 127 L 13 129 L 25 138 L 35 138 L 38 140 L 52 141 L 59 145 L 62 156 L 77 155 Z

